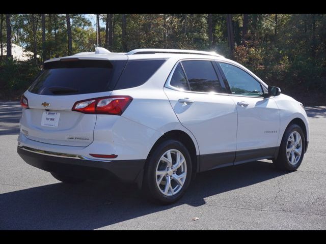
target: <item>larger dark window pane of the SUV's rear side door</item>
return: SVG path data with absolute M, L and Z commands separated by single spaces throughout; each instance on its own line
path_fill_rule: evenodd
M 190 88 L 194 92 L 222 92 L 220 81 L 210 61 L 183 61 L 182 66 L 187 75 Z

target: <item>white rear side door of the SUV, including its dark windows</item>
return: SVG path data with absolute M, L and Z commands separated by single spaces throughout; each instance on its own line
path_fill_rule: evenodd
M 180 123 L 199 145 L 200 171 L 232 164 L 236 150 L 237 114 L 214 63 L 184 60 L 164 88 Z

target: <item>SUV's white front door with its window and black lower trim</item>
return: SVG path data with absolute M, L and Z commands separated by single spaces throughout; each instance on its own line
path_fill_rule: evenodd
M 273 98 L 263 98 L 261 84 L 249 73 L 220 63 L 238 114 L 235 164 L 274 156 L 280 115 Z

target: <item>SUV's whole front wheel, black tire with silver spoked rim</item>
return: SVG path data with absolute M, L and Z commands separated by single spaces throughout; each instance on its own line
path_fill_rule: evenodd
M 305 134 L 302 128 L 292 124 L 284 132 L 279 155 L 273 163 L 279 169 L 294 171 L 301 165 L 305 148 Z

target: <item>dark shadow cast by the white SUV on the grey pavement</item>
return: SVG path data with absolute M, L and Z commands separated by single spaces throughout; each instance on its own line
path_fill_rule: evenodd
M 207 171 L 197 175 L 179 202 L 168 206 L 152 204 L 136 186 L 116 181 L 34 187 L 0 195 L 0 229 L 92 230 L 182 204 L 200 206 L 206 197 L 285 173 L 263 161 Z

